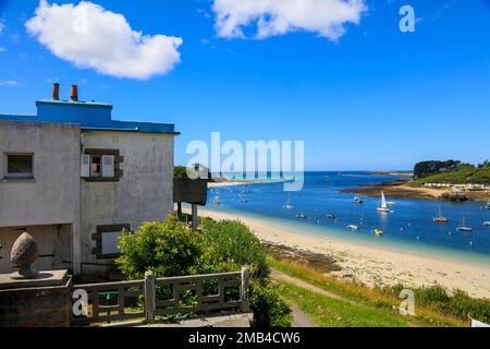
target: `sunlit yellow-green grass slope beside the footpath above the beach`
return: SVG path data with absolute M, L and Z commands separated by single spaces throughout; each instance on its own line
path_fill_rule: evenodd
M 369 288 L 360 282 L 347 282 L 328 277 L 308 266 L 286 258 L 269 256 L 268 263 L 277 270 L 347 300 L 333 300 L 310 290 L 298 290 L 297 287 L 281 281 L 280 284 L 285 288 L 282 294 L 296 303 L 320 326 L 328 325 L 329 321 L 335 322 L 334 320 L 321 320 L 322 314 L 329 313 L 338 315 L 340 320 L 336 321 L 336 325 L 339 326 L 466 326 L 465 320 L 445 314 L 419 302 L 416 303 L 416 316 L 403 316 L 397 310 L 401 299 L 394 292 L 387 292 L 381 288 Z M 356 304 L 353 305 L 348 301 Z M 345 314 L 354 323 L 348 324 Z M 335 324 L 332 326 L 335 326 Z

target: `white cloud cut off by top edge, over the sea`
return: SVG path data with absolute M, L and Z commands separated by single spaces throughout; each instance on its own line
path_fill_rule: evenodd
M 212 9 L 221 37 L 244 38 L 244 28 L 256 25 L 256 38 L 306 31 L 331 40 L 367 11 L 364 0 L 215 0 Z

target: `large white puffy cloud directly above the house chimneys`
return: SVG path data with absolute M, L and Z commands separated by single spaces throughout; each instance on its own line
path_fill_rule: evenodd
M 143 35 L 123 15 L 88 1 L 59 5 L 40 0 L 25 25 L 57 57 L 106 75 L 144 80 L 180 62 L 182 38 Z

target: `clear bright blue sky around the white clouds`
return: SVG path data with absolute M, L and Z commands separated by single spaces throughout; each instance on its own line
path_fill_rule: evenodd
M 364 0 L 358 23 L 345 21 L 338 38 L 302 24 L 256 38 L 254 22 L 240 27 L 244 38 L 226 36 L 212 1 L 94 2 L 133 31 L 182 39 L 180 62 L 144 80 L 75 67 L 27 33 L 38 1 L 0 0 L 0 113 L 35 113 L 59 81 L 62 97 L 77 83 L 81 99 L 113 104 L 118 119 L 174 122 L 177 164 L 189 158 L 189 141 L 209 141 L 211 131 L 304 140 L 309 170 L 489 158 L 490 1 Z M 415 33 L 399 29 L 403 4 L 416 11 Z

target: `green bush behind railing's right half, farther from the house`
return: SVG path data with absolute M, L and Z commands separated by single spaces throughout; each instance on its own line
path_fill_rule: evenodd
M 204 231 L 201 268 L 223 272 L 247 265 L 253 277 L 264 279 L 269 276 L 264 248 L 245 225 L 232 220 L 205 220 Z

